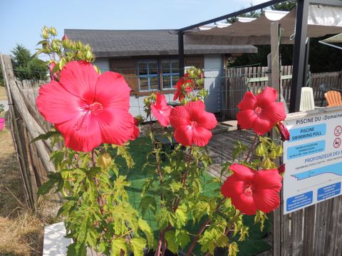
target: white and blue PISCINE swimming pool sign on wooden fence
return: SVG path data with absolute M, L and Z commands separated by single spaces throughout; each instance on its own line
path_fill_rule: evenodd
M 341 195 L 342 107 L 289 114 L 284 214 Z

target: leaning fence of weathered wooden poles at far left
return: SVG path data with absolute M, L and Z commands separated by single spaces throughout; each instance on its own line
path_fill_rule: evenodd
M 31 143 L 33 138 L 49 129 L 49 124 L 36 109 L 38 85 L 41 82 L 16 80 L 9 55 L 0 55 L 0 63 L 9 100 L 8 123 L 24 181 L 26 205 L 35 208 L 37 188 L 46 180 L 48 171 L 55 171 L 49 161 L 52 150 L 50 142 Z

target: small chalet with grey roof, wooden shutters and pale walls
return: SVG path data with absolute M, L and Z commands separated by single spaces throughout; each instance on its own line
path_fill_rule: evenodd
M 142 100 L 160 91 L 172 100 L 173 86 L 179 79 L 178 36 L 170 30 L 83 30 L 66 29 L 74 41 L 89 43 L 95 65 L 102 72 L 112 70 L 125 76 L 132 88 L 130 112 L 143 114 Z M 185 68 L 204 70 L 204 87 L 209 90 L 207 110 L 218 112 L 222 105 L 224 63 L 229 56 L 257 53 L 254 46 L 185 45 Z

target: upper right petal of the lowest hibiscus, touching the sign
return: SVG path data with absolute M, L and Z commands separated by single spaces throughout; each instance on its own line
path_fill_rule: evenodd
M 256 172 L 254 184 L 258 190 L 269 188 L 279 192 L 281 189 L 281 179 L 277 169 L 261 170 Z

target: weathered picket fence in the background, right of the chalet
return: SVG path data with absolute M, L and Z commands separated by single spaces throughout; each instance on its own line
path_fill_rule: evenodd
M 292 81 L 292 66 L 281 66 L 281 93 L 286 103 L 290 102 Z M 225 95 L 225 116 L 235 119 L 238 112 L 237 104 L 242 100 L 244 92 L 251 90 L 254 93 L 269 85 L 269 73 L 267 67 L 244 67 L 227 68 L 224 77 Z M 308 86 L 314 89 L 315 102 L 321 102 L 324 92 L 319 88 L 320 85 L 327 85 L 336 89 L 342 89 L 341 73 L 311 73 Z

